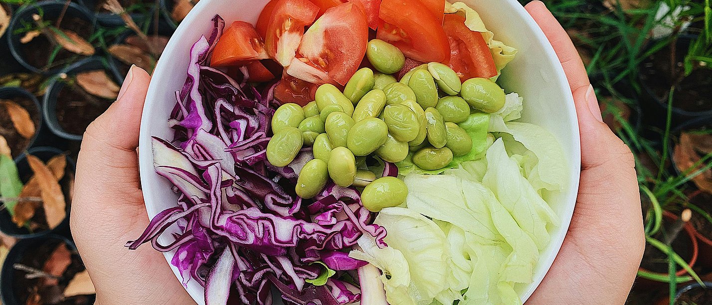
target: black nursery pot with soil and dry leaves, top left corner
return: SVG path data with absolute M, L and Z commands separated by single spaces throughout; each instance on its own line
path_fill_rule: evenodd
M 53 46 L 43 35 L 34 38 L 30 43 L 23 44 L 20 42 L 20 39 L 24 34 L 15 33 L 15 31 L 23 28 L 23 23 L 32 24 L 32 15 L 39 14 L 40 11 L 43 12 L 44 20 L 55 21 L 62 14 L 62 11 L 67 4 L 67 10 L 63 16 L 61 28 L 75 31 L 79 33 L 80 36 L 88 38 L 88 36 L 91 35 L 91 31 L 94 26 L 94 16 L 80 4 L 75 4 L 73 2 L 67 3 L 66 1 L 61 0 L 40 1 L 36 4 L 23 6 L 15 12 L 12 21 L 10 21 L 8 35 L 6 35 L 8 46 L 12 56 L 27 70 L 30 70 L 33 73 L 51 75 L 60 70 L 61 66 L 45 68 L 44 65 L 38 65 L 36 62 L 33 63 L 31 58 L 46 60 L 52 52 Z M 33 44 L 36 41 L 39 42 L 37 44 Z M 43 41 L 46 41 L 46 43 L 40 44 L 43 43 Z M 82 57 L 80 55 L 70 53 L 68 50 L 60 50 L 57 54 L 55 64 L 61 65 L 63 60 L 70 60 L 75 56 Z

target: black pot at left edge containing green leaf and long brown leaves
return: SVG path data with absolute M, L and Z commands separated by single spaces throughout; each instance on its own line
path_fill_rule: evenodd
M 43 162 L 48 161 L 51 159 L 53 156 L 57 156 L 58 154 L 63 154 L 64 151 L 61 151 L 59 149 L 56 149 L 54 147 L 33 147 L 28 150 L 28 153 L 36 156 Z M 30 169 L 29 164 L 27 163 L 26 159 L 26 154 L 22 154 L 18 159 L 16 159 L 15 164 L 17 165 L 17 172 L 20 176 L 20 180 L 22 183 L 27 183 L 27 181 L 30 179 L 32 176 L 32 171 Z M 64 197 L 67 203 L 66 211 L 67 215 L 64 220 L 62 220 L 62 223 L 60 223 L 57 228 L 54 228 L 52 230 L 44 230 L 44 231 L 39 231 L 39 232 L 30 232 L 27 228 L 17 228 L 17 225 L 12 222 L 12 219 L 10 217 L 10 213 L 8 213 L 7 210 L 1 210 L 0 211 L 0 231 L 5 233 L 6 235 L 10 235 L 12 237 L 17 237 L 17 238 L 31 238 L 31 237 L 42 237 L 46 235 L 52 235 L 52 234 L 58 234 L 58 235 L 67 235 L 69 236 L 69 211 L 70 211 L 70 191 L 69 191 L 69 181 L 70 181 L 70 176 L 73 176 L 76 170 L 76 162 L 67 157 L 67 167 L 65 169 L 65 175 L 62 178 L 61 181 L 59 181 L 60 186 L 62 186 L 62 191 L 64 193 Z M 1 286 L 1 285 L 0 285 Z

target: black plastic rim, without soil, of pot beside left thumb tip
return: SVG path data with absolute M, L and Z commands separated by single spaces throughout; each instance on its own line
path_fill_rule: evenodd
M 80 73 L 83 71 L 89 71 L 89 70 L 105 70 L 108 75 L 112 75 L 111 70 L 108 68 L 108 65 L 106 64 L 106 60 L 104 58 L 100 57 L 90 57 L 90 58 L 85 58 L 84 60 L 80 60 L 77 63 L 74 63 L 73 65 L 68 66 L 67 68 L 64 68 L 61 70 L 61 73 L 66 73 L 66 75 L 75 75 L 76 73 Z M 117 80 L 114 80 L 117 81 Z M 68 140 L 73 140 L 73 141 L 80 141 L 83 137 L 82 134 L 72 134 L 70 132 L 67 132 L 64 130 L 61 125 L 59 124 L 58 118 L 57 118 L 57 99 L 59 97 L 59 94 L 61 90 L 66 86 L 66 83 L 63 82 L 63 80 L 55 77 L 53 78 L 47 85 L 47 91 L 43 97 L 42 101 L 42 111 L 44 113 L 45 117 L 45 123 L 47 124 L 47 127 L 50 129 L 50 131 L 53 134 L 56 134 L 58 137 L 61 137 L 63 139 L 68 139 Z

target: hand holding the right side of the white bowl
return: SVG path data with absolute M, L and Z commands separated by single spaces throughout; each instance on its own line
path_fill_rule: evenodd
M 624 304 L 645 248 L 635 162 L 603 123 L 586 69 L 540 1 L 525 6 L 554 47 L 581 129 L 581 181 L 566 239 L 527 304 Z

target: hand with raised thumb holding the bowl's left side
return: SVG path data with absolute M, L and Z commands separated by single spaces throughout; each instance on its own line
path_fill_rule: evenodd
M 124 247 L 149 222 L 136 153 L 149 82 L 146 71 L 131 67 L 117 101 L 87 128 L 79 153 L 70 225 L 96 304 L 194 304 L 162 253 Z

